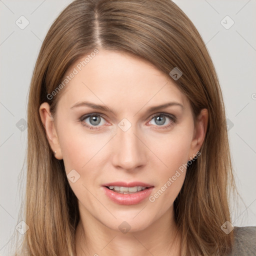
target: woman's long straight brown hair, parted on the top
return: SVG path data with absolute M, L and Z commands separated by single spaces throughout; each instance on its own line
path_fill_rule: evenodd
M 220 226 L 230 221 L 227 189 L 234 188 L 234 182 L 223 99 L 200 34 L 170 0 L 75 0 L 51 25 L 29 91 L 24 220 L 29 229 L 22 254 L 65 256 L 75 251 L 77 199 L 63 161 L 52 154 L 38 109 L 48 102 L 54 116 L 61 91 L 52 99 L 47 94 L 77 59 L 95 48 L 141 57 L 167 75 L 178 67 L 182 76 L 175 83 L 188 97 L 193 114 L 208 109 L 201 155 L 187 168 L 174 214 L 182 234 L 182 255 L 227 254 L 233 232 L 225 234 Z

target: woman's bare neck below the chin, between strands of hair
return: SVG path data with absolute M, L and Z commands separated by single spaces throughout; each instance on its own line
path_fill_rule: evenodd
M 91 218 L 80 218 L 75 232 L 76 256 L 180 255 L 180 232 L 173 208 L 136 232 L 113 230 Z

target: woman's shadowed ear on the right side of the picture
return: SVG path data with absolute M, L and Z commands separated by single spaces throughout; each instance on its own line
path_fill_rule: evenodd
M 208 110 L 206 108 L 201 109 L 199 115 L 195 119 L 193 139 L 191 141 L 189 159 L 192 159 L 197 151 L 200 150 L 208 124 Z M 192 157 L 192 158 L 191 158 Z

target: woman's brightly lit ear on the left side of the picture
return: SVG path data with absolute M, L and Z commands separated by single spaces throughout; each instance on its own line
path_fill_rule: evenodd
M 56 153 L 54 153 L 54 156 L 55 158 L 60 160 L 62 159 L 62 153 L 59 145 L 56 128 L 54 125 L 54 120 L 50 113 L 50 107 L 47 102 L 43 102 L 40 105 L 39 113 L 50 147 L 53 152 L 56 151 Z

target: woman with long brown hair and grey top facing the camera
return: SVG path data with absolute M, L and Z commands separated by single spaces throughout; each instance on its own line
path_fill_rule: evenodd
M 169 0 L 61 12 L 30 85 L 27 166 L 21 255 L 242 255 L 217 75 Z

